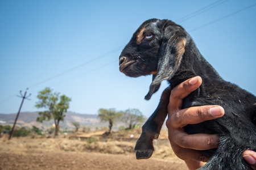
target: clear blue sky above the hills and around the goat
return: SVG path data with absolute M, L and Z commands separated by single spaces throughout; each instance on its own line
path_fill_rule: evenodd
M 160 90 L 151 76 L 129 78 L 118 57 L 144 20 L 182 25 L 222 78 L 256 95 L 255 1 L 0 1 L 0 113 L 17 113 L 28 87 L 34 107 L 45 87 L 71 97 L 69 111 L 138 108 L 150 116 Z

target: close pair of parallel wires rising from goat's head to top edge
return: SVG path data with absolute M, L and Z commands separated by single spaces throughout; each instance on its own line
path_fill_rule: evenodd
M 222 3 L 225 3 L 225 2 L 228 2 L 228 1 L 229 0 L 225 0 L 225 1 L 221 0 L 221 1 L 216 1 L 216 2 L 210 3 L 209 5 L 207 5 L 203 8 L 200 8 L 199 10 L 196 10 L 196 11 L 194 11 L 194 12 L 188 14 L 188 15 L 183 16 L 182 18 L 176 20 L 175 22 L 182 23 L 185 20 L 191 19 L 191 18 L 193 18 L 197 15 L 203 14 L 204 12 L 209 11 L 210 9 L 212 9 L 214 7 L 217 7 L 217 6 L 221 5 Z

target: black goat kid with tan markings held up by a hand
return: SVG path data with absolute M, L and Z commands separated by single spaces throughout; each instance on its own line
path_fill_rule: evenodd
M 225 109 L 221 118 L 185 126 L 188 134 L 220 136 L 217 150 L 202 151 L 210 159 L 200 169 L 250 169 L 242 159 L 242 152 L 256 151 L 256 97 L 223 80 L 201 56 L 183 27 L 170 20 L 150 19 L 144 22 L 123 49 L 119 70 L 131 77 L 153 75 L 146 100 L 158 91 L 162 80 L 170 83 L 158 107 L 142 127 L 141 137 L 135 146 L 137 159 L 150 158 L 154 151 L 152 141 L 158 138 L 167 116 L 172 88 L 199 75 L 203 83 L 183 100 L 183 108 L 221 105 Z

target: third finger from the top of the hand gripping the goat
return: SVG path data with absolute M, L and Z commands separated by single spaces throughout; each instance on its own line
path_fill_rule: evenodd
M 182 148 L 193 150 L 210 150 L 218 147 L 219 137 L 216 134 L 190 134 L 176 130 L 169 135 L 169 140 Z

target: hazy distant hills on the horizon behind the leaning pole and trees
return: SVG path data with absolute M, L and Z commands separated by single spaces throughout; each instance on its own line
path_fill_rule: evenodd
M 80 127 L 90 126 L 91 129 L 100 128 L 102 126 L 108 126 L 107 122 L 100 122 L 100 119 L 96 114 L 80 114 L 67 112 L 65 113 L 64 122 L 60 122 L 60 129 L 74 129 L 71 122 L 79 122 Z M 53 125 L 53 120 L 43 121 L 43 123 L 36 122 L 38 117 L 38 112 L 20 112 L 16 126 L 32 127 L 36 126 L 38 128 L 48 129 Z M 16 118 L 15 114 L 1 114 L 0 113 L 0 125 L 11 125 L 13 126 L 14 120 Z

